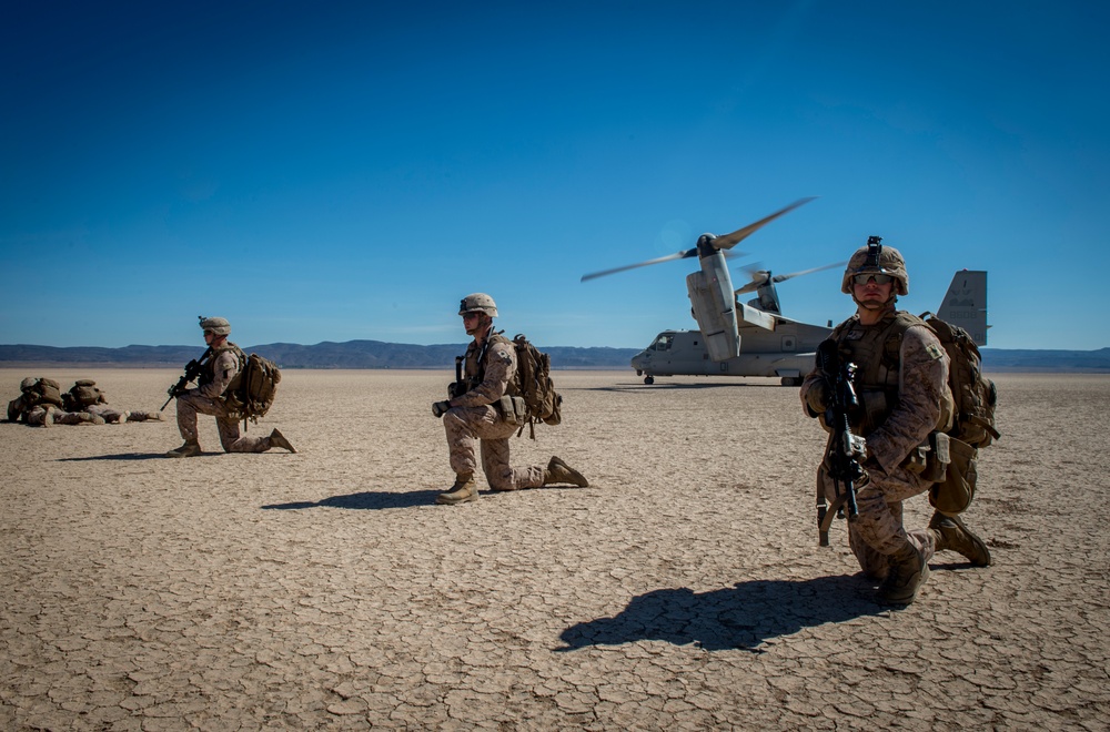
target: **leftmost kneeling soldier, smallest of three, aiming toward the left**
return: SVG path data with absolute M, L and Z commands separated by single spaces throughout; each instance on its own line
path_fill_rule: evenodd
M 229 405 L 229 397 L 240 387 L 239 377 L 246 367 L 246 354 L 228 340 L 231 324 L 222 317 L 200 318 L 208 349 L 185 368 L 185 376 L 170 388 L 170 398 L 176 399 L 178 429 L 185 440 L 181 447 L 167 453 L 167 457 L 195 457 L 202 454 L 196 430 L 196 415 L 215 417 L 220 444 L 225 453 L 265 453 L 280 447 L 296 453 L 293 445 L 276 428 L 266 437 L 241 435 L 240 414 Z M 195 373 L 193 373 L 195 369 Z M 186 388 L 195 380 L 196 386 Z

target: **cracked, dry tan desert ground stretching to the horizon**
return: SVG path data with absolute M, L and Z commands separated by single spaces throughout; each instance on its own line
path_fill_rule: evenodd
M 161 369 L 0 369 L 152 409 Z M 1090 729 L 1110 725 L 1110 377 L 998 375 L 1003 436 L 938 555 L 872 601 L 824 446 L 764 379 L 556 372 L 564 423 L 513 441 L 588 488 L 435 506 L 452 374 L 287 370 L 295 455 L 205 454 L 164 423 L 0 425 L 0 729 Z M 907 523 L 931 514 L 908 504 Z

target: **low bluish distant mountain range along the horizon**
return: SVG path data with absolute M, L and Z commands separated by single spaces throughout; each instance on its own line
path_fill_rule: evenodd
M 638 348 L 575 348 L 542 346 L 558 369 L 629 369 L 628 362 Z M 282 368 L 454 368 L 455 356 L 466 344 L 416 346 L 382 340 L 325 340 L 313 346 L 295 343 L 269 343 L 244 347 L 281 365 Z M 39 364 L 179 368 L 203 353 L 196 346 L 95 346 L 0 345 L 0 367 Z M 983 348 L 983 368 L 988 372 L 1110 373 L 1110 348 L 1098 350 L 1023 350 Z

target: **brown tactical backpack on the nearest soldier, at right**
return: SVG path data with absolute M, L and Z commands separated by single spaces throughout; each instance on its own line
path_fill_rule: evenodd
M 948 430 L 951 461 L 945 479 L 929 490 L 929 502 L 944 514 L 956 515 L 966 510 L 975 497 L 979 448 L 1001 437 L 995 428 L 998 390 L 982 375 L 982 356 L 967 331 L 932 313 L 925 313 L 921 318 L 932 328 L 951 362 L 948 386 L 956 403 L 952 428 Z

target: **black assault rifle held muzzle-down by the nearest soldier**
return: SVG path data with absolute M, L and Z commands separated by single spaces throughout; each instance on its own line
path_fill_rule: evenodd
M 836 498 L 826 510 L 825 490 L 817 487 L 817 530 L 820 546 L 829 546 L 829 526 L 834 516 L 851 521 L 858 516 L 856 484 L 864 477 L 860 462 L 867 456 L 867 446 L 860 435 L 851 434 L 849 416 L 859 407 L 856 387 L 856 365 L 842 363 L 835 340 L 826 340 L 817 348 L 817 366 L 833 378 L 825 396 L 825 425 L 833 430 L 829 440 L 828 474 L 833 478 Z

